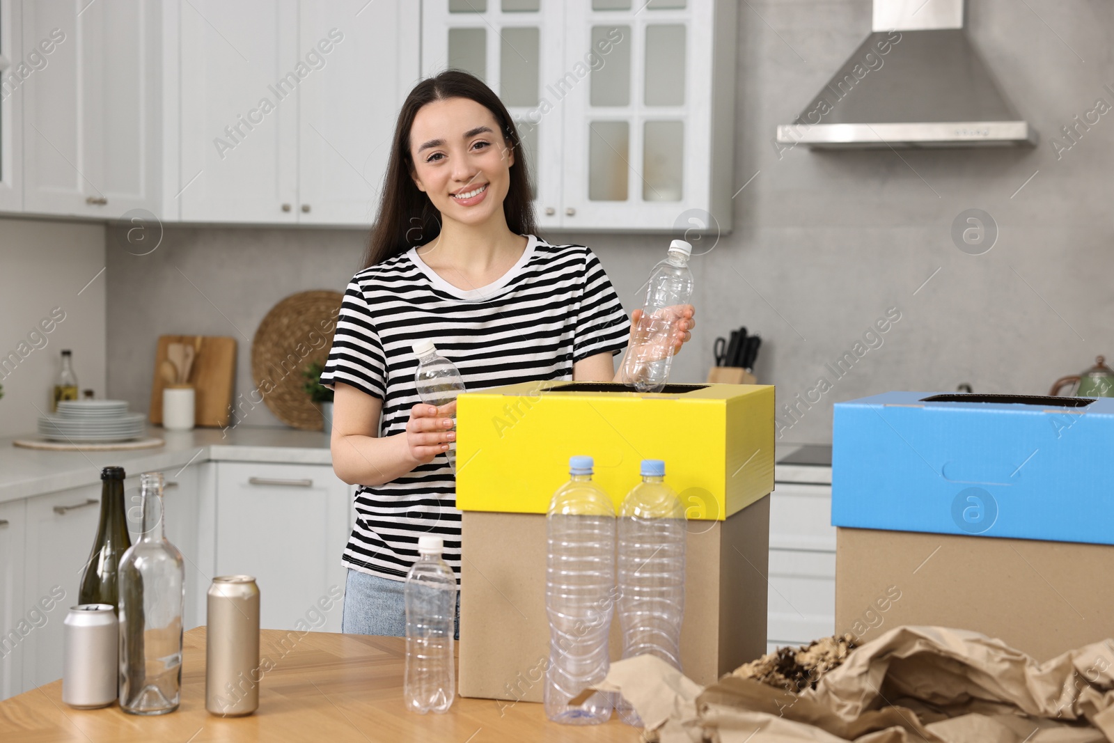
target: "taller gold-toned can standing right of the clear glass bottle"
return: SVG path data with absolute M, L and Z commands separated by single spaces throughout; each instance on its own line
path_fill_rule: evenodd
M 250 575 L 213 578 L 205 639 L 205 708 L 222 717 L 260 706 L 260 588 Z

